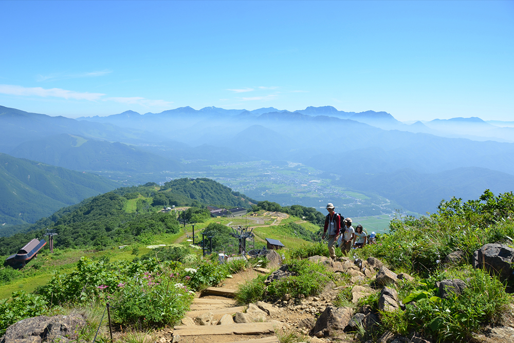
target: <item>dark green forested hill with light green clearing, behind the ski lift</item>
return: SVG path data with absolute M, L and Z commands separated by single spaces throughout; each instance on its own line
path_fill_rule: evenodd
M 153 182 L 122 187 L 62 208 L 31 225 L 27 233 L 0 238 L 0 255 L 17 251 L 21 242 L 41 238 L 45 228 L 56 230 L 54 241 L 60 247 L 150 243 L 153 235 L 178 232 L 175 212 L 158 212 L 169 205 L 250 207 L 245 195 L 209 179 L 179 179 L 163 187 Z

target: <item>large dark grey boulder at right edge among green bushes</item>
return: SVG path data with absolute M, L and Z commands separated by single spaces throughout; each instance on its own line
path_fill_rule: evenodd
M 489 274 L 498 275 L 502 280 L 511 277 L 513 262 L 514 249 L 504 244 L 485 244 L 473 254 L 474 268 L 485 268 Z

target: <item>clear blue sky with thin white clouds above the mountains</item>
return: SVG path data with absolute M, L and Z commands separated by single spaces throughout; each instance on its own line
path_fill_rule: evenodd
M 1 1 L 0 105 L 514 120 L 514 1 Z

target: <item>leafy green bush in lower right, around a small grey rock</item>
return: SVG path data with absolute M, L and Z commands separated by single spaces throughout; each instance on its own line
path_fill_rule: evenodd
M 453 278 L 466 280 L 468 287 L 460 295 L 440 298 L 436 281 Z M 422 280 L 403 298 L 405 312 L 383 312 L 381 317 L 384 328 L 393 332 L 416 331 L 436 341 L 464 342 L 487 323 L 497 322 L 511 301 L 497 278 L 467 268 Z

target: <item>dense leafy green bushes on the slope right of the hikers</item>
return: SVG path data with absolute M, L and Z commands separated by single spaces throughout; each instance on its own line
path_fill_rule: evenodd
M 364 253 L 387 260 L 393 269 L 428 277 L 453 251 L 472 256 L 486 243 L 512 244 L 513 199 L 512 193 L 494 197 L 486 190 L 479 200 L 443 200 L 438 212 L 429 217 L 395 218 L 390 234 L 381 235 L 378 244 L 365 246 Z

